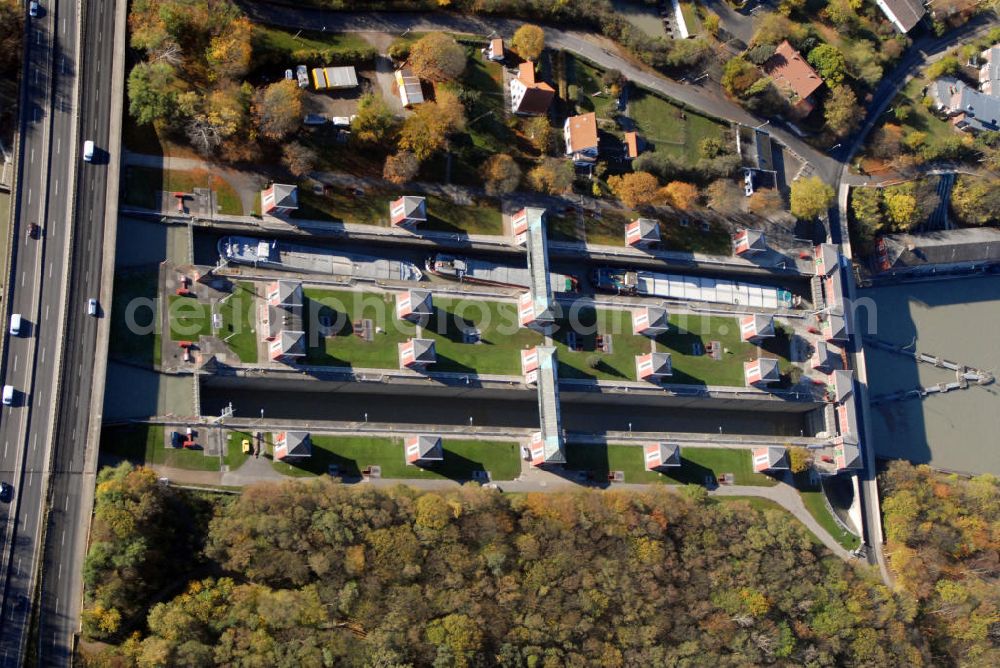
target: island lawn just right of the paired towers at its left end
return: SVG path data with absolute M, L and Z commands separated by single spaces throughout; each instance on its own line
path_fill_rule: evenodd
M 306 363 L 320 366 L 348 366 L 395 369 L 399 366 L 398 345 L 413 334 L 413 325 L 396 318 L 396 296 L 392 293 L 348 292 L 345 290 L 304 290 L 306 327 L 318 319 L 328 319 L 333 334 L 320 339 L 307 331 L 310 345 Z M 372 320 L 380 333 L 364 341 L 353 333 L 352 323 Z

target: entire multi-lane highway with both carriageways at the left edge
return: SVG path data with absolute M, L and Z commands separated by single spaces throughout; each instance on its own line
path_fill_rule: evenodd
M 98 151 L 89 164 L 80 153 L 86 139 L 107 146 L 115 3 L 86 3 L 83 22 L 75 0 L 43 6 L 25 27 L 23 148 L 5 314 L 20 313 L 25 326 L 8 337 L 3 368 L 17 395 L 0 415 L 0 479 L 15 488 L 13 503 L 0 507 L 0 666 L 23 665 L 27 656 L 66 665 L 72 651 L 80 583 L 73 548 L 97 339 L 85 303 L 100 294 L 104 257 L 107 153 Z M 38 239 L 27 235 L 33 222 L 41 226 Z M 38 627 L 29 646 L 33 611 Z

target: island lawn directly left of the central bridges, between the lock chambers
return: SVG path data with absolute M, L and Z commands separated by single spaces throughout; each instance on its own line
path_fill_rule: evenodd
M 463 332 L 478 329 L 480 343 L 465 343 Z M 518 325 L 517 305 L 507 302 L 434 299 L 434 314 L 423 328 L 434 339 L 434 371 L 521 375 L 521 349 L 542 343 Z

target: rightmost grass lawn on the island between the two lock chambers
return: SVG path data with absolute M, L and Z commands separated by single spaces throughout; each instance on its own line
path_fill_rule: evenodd
M 705 350 L 712 341 L 719 341 L 724 350 L 722 359 L 711 355 L 693 355 L 695 347 Z M 657 349 L 669 352 L 673 375 L 669 382 L 682 385 L 721 385 L 742 387 L 743 363 L 758 356 L 758 348 L 740 340 L 736 318 L 695 314 L 671 314 L 670 329 L 656 337 Z

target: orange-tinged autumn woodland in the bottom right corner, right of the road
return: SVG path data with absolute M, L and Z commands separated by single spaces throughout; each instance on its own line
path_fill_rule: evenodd
M 896 584 L 938 665 L 1000 665 L 1000 481 L 893 462 L 882 476 Z

